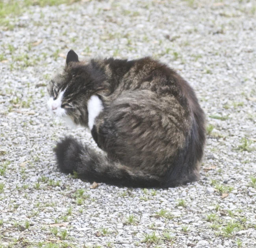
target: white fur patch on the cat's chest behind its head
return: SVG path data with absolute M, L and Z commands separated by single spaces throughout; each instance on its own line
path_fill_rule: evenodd
M 95 95 L 91 96 L 91 98 L 88 100 L 87 109 L 88 109 L 88 126 L 90 130 L 92 130 L 95 118 L 103 110 L 103 105 L 100 98 Z

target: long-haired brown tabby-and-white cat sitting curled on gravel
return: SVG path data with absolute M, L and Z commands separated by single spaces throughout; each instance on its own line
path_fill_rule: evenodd
M 168 188 L 199 179 L 205 116 L 189 84 L 150 57 L 79 61 L 48 87 L 48 107 L 89 127 L 105 154 L 72 137 L 57 143 L 57 164 L 87 181 L 127 187 Z

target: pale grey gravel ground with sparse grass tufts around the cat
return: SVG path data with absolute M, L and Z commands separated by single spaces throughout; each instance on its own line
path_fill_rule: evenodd
M 256 2 L 88 1 L 30 6 L 0 28 L 0 247 L 256 247 Z M 73 135 L 46 85 L 80 59 L 153 56 L 197 92 L 208 120 L 201 180 L 95 189 L 56 168 Z M 53 225 L 56 224 L 56 225 Z

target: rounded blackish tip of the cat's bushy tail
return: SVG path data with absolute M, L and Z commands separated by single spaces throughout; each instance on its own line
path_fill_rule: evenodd
M 73 173 L 80 163 L 82 144 L 72 137 L 65 137 L 54 148 L 58 167 L 64 173 Z

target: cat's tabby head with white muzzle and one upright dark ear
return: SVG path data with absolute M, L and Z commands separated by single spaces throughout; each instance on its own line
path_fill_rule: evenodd
M 79 62 L 78 55 L 70 50 L 67 54 L 66 67 L 62 74 L 57 74 L 50 81 L 47 102 L 53 115 L 72 120 L 75 124 L 87 125 L 87 101 L 89 89 L 85 79 L 89 78 L 84 70 L 85 63 Z

